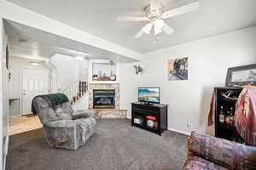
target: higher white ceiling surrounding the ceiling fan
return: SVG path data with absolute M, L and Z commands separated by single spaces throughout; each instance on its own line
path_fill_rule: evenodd
M 195 0 L 162 0 L 165 10 Z M 256 0 L 200 0 L 195 12 L 166 20 L 171 36 L 134 39 L 145 21 L 116 21 L 117 16 L 143 16 L 149 0 L 9 0 L 51 19 L 102 37 L 138 53 L 190 42 L 256 25 Z M 154 43 L 156 41 L 156 43 Z

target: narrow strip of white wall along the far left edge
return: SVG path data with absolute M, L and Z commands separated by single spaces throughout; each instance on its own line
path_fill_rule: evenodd
M 0 17 L 0 169 L 5 169 L 5 161 L 9 142 L 9 72 L 5 66 L 5 48 L 7 42 L 8 39 L 3 30 L 3 19 Z

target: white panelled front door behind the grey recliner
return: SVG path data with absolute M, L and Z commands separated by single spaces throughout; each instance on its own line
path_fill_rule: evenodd
M 32 99 L 40 94 L 49 94 L 49 72 L 37 69 L 22 69 L 21 114 L 32 114 Z

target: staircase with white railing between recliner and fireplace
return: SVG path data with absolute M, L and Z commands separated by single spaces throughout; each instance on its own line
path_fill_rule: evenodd
M 88 88 L 86 78 L 87 72 L 84 72 L 75 82 L 72 82 L 67 88 L 61 90 L 61 94 L 67 95 L 71 105 L 74 105 L 86 94 Z

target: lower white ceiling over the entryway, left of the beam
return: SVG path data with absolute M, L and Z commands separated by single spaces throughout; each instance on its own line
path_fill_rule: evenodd
M 81 42 L 75 42 L 9 20 L 4 20 L 4 27 L 9 35 L 10 55 L 13 57 L 47 60 L 54 54 L 65 54 L 73 57 L 90 54 L 90 56 L 84 56 L 88 59 L 134 61 L 100 48 L 94 48 Z

